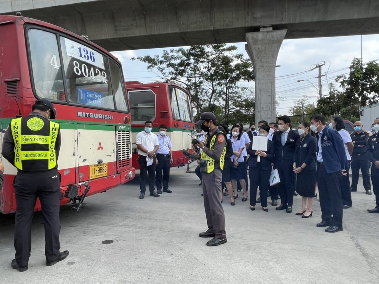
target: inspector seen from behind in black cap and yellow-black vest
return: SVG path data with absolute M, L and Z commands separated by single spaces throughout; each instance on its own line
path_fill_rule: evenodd
M 59 221 L 60 178 L 58 154 L 61 146 L 60 126 L 55 119 L 53 104 L 39 100 L 27 117 L 11 121 L 3 139 L 2 155 L 17 168 L 14 181 L 16 221 L 14 228 L 15 259 L 11 267 L 28 270 L 31 250 L 31 220 L 37 197 L 41 201 L 45 225 L 46 265 L 65 259 L 60 253 Z

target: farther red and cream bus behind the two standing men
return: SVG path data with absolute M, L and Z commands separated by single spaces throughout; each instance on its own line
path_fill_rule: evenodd
M 183 149 L 194 151 L 191 144 L 194 138 L 194 121 L 191 97 L 183 87 L 173 83 L 125 82 L 127 98 L 132 113 L 132 152 L 133 165 L 139 169 L 136 135 L 144 130 L 146 120 L 153 122 L 153 132 L 159 133 L 159 126 L 167 126 L 167 135 L 172 142 L 171 167 L 185 165 L 189 158 Z

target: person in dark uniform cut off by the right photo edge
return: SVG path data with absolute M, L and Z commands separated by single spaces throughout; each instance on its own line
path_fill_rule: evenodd
M 379 117 L 374 121 L 375 134 L 369 139 L 368 155 L 370 161 L 373 163 L 371 167 L 371 182 L 373 183 L 373 190 L 376 200 L 374 209 L 367 209 L 370 213 L 379 213 Z

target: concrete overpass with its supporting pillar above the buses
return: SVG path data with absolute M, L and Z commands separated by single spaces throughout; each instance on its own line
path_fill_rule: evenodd
M 246 41 L 257 120 L 275 118 L 283 39 L 379 33 L 379 0 L 0 0 L 0 14 L 16 11 L 110 51 Z

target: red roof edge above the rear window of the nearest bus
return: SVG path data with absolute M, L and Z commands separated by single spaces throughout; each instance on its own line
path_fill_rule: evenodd
M 16 23 L 16 25 L 22 25 L 23 26 L 25 23 L 30 23 L 33 25 L 38 25 L 41 27 L 50 28 L 52 30 L 59 31 L 61 33 L 69 34 L 70 36 L 75 37 L 76 39 L 78 39 L 80 41 L 84 41 L 87 44 L 89 44 L 93 47 L 96 47 L 97 49 L 103 51 L 104 53 L 107 53 L 111 58 L 113 58 L 114 60 L 116 60 L 117 62 L 120 63 L 120 61 L 114 55 L 112 55 L 108 50 L 102 48 L 101 46 L 95 44 L 92 41 L 89 41 L 88 39 L 85 39 L 82 36 L 79 36 L 78 34 L 73 33 L 72 31 L 69 31 L 69 30 L 66 30 L 64 28 L 53 25 L 51 23 L 47 23 L 47 22 L 37 20 L 37 19 L 33 19 L 33 18 L 28 18 L 28 17 L 23 17 L 23 16 L 13 16 L 13 15 L 0 15 L 0 25 L 2 23 L 10 22 L 10 21 Z

